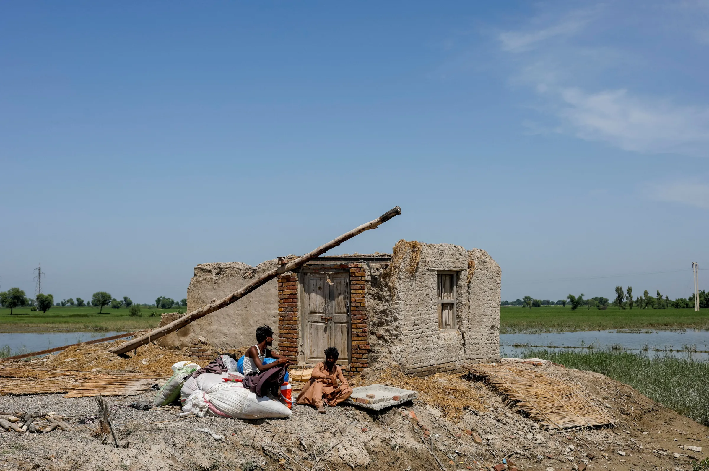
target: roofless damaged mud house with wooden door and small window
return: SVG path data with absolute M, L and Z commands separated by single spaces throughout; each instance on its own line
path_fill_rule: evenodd
M 197 265 L 187 311 L 225 297 L 287 260 L 257 267 Z M 277 333 L 274 348 L 301 366 L 323 361 L 323 350 L 335 346 L 350 375 L 379 361 L 401 365 L 410 375 L 459 370 L 464 363 L 498 361 L 500 279 L 499 265 L 485 250 L 400 240 L 391 254 L 311 260 L 170 333 L 162 345 L 204 360 L 214 350 L 252 345 L 257 326 L 268 324 Z M 161 326 L 179 315 L 165 314 Z

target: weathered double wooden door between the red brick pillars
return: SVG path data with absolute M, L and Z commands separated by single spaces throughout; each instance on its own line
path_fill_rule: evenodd
M 350 363 L 350 275 L 306 273 L 304 353 L 307 363 L 325 360 L 325 348 L 337 347 L 341 365 Z

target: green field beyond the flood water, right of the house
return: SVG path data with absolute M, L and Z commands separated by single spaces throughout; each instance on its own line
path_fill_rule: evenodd
M 602 331 L 609 328 L 709 327 L 709 309 L 620 309 L 502 306 L 500 333 Z

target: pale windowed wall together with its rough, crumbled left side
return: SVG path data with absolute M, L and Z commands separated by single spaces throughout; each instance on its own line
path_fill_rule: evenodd
M 439 272 L 457 274 L 454 329 L 439 326 Z M 497 360 L 500 274 L 484 250 L 400 240 L 367 301 L 370 364 L 395 362 L 408 374 L 430 375 L 467 361 Z

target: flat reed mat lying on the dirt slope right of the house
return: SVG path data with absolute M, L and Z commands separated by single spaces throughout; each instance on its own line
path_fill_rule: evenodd
M 471 365 L 470 369 L 547 428 L 616 423 L 598 400 L 577 384 L 518 365 L 488 363 Z

